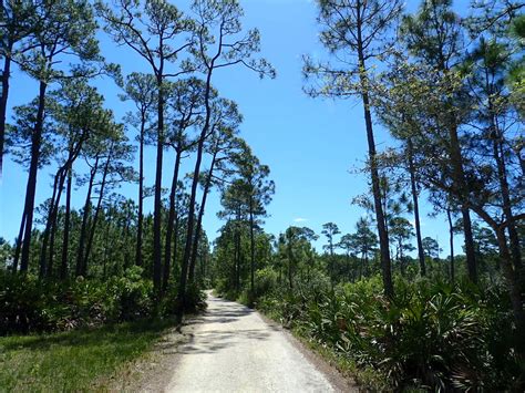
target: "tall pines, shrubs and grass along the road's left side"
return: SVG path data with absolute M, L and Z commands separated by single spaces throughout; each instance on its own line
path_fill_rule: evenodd
M 0 176 L 4 157 L 28 173 L 18 236 L 0 237 L 1 391 L 96 389 L 205 307 L 208 194 L 267 172 L 215 73 L 275 70 L 237 1 L 188 6 L 1 2 Z M 101 37 L 136 69 L 106 61 Z M 28 79 L 34 97 L 13 105 Z

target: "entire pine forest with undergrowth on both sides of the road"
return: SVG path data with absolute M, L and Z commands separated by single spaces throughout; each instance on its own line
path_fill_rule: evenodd
M 364 390 L 525 390 L 525 4 L 312 4 L 326 56 L 297 60 L 302 94 L 364 118 L 352 132 L 368 146 L 367 192 L 352 195 L 352 174 L 334 185 L 362 213 L 349 234 L 328 219 L 265 229 L 279 184 L 215 83 L 240 69 L 279 83 L 241 4 L 1 1 L 0 172 L 23 169 L 24 199 L 0 228 L 0 390 L 56 389 L 20 384 L 23 342 L 142 340 L 112 352 L 113 370 L 203 312 L 205 289 L 279 322 Z M 101 37 L 136 70 L 107 61 Z M 33 99 L 13 105 L 22 74 Z M 425 234 L 422 205 L 446 220 L 443 244 Z

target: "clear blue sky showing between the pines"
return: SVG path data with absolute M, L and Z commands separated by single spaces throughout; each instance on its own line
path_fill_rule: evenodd
M 187 1 L 183 1 L 183 3 Z M 271 234 L 284 231 L 290 225 L 308 226 L 320 234 L 325 223 L 333 221 L 342 234 L 354 230 L 354 223 L 364 214 L 351 205 L 352 197 L 367 193 L 367 178 L 351 174 L 359 167 L 367 153 L 362 106 L 359 101 L 331 101 L 310 99 L 301 90 L 302 54 L 323 56 L 318 43 L 316 6 L 309 0 L 241 0 L 245 8 L 246 28 L 257 27 L 261 33 L 262 52 L 277 69 L 277 79 L 259 80 L 240 68 L 223 69 L 217 73 L 215 85 L 220 94 L 236 101 L 244 115 L 241 136 L 253 147 L 261 163 L 269 165 L 276 183 L 276 194 L 268 207 L 270 216 L 265 229 Z M 177 2 L 178 4 L 179 2 Z M 103 55 L 122 64 L 124 73 L 147 71 L 143 61 L 131 50 L 116 48 L 104 34 L 100 34 Z M 38 92 L 34 81 L 16 71 L 11 80 L 11 105 L 27 103 Z M 105 96 L 120 120 L 130 104 L 119 100 L 120 90 L 110 80 L 93 82 Z M 135 132 L 130 130 L 130 138 Z M 393 142 L 388 133 L 375 126 L 378 148 Z M 146 184 L 154 179 L 154 151 L 147 149 Z M 165 187 L 169 184 L 173 153 L 166 153 L 164 165 Z M 136 164 L 136 163 L 135 163 Z M 193 162 L 187 161 L 189 170 Z M 37 203 L 50 197 L 49 168 L 39 173 Z M 0 236 L 13 240 L 20 225 L 27 173 L 8 157 L 4 163 L 0 190 Z M 135 198 L 136 185 L 123 186 L 122 194 Z M 85 190 L 74 193 L 74 204 L 80 206 Z M 208 199 L 204 227 L 214 239 L 223 223 L 216 217 L 220 209 L 216 193 Z M 147 199 L 146 208 L 153 200 Z M 437 239 L 447 252 L 447 226 L 445 217 L 429 218 L 431 208 L 422 198 L 423 236 Z M 408 217 L 411 219 L 411 217 Z M 318 241 L 318 246 L 323 239 Z M 456 239 L 461 249 L 461 239 Z

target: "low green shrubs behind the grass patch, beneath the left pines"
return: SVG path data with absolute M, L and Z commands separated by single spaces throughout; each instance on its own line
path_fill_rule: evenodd
M 106 281 L 38 280 L 28 275 L 0 272 L 0 332 L 69 330 L 146 318 L 165 317 L 176 311 L 176 288 L 158 299 L 153 282 L 142 277 L 138 267 Z M 188 307 L 203 308 L 203 293 L 191 290 Z

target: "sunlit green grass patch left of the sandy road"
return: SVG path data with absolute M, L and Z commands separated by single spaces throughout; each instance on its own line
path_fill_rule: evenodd
M 126 362 L 163 335 L 171 320 L 0 338 L 0 391 L 104 390 Z

